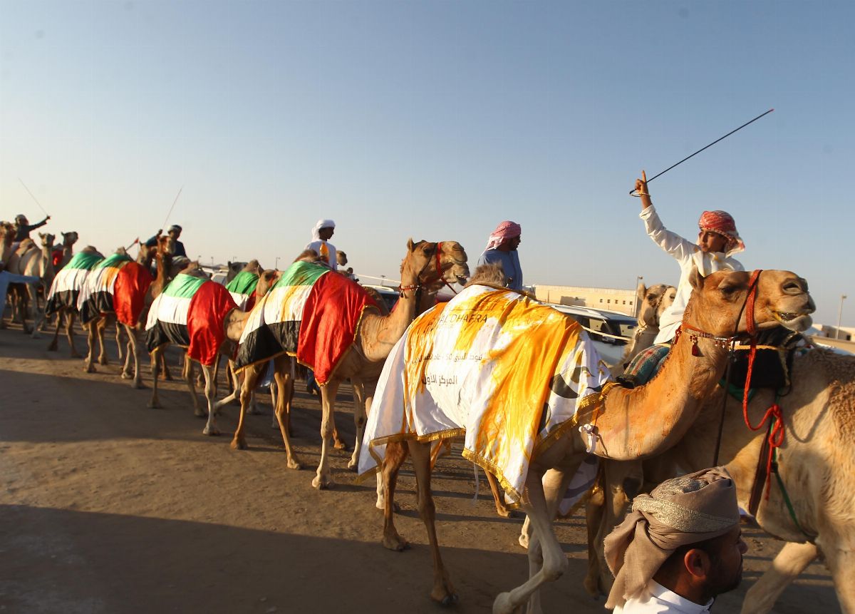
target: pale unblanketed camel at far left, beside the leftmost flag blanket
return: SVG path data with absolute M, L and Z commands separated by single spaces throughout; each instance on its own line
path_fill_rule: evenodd
M 50 288 L 54 278 L 53 254 L 51 249 L 56 237 L 53 234 L 38 233 L 41 247 L 37 247 L 32 239 L 21 241 L 18 250 L 9 257 L 7 269 L 19 275 L 32 275 L 38 277 L 39 281 L 34 284 L 10 284 L 15 302 L 18 305 L 18 313 L 21 316 L 21 324 L 25 334 L 31 334 L 33 339 L 38 339 L 38 328 L 44 320 L 44 314 L 38 310 L 38 286 Z M 32 330 L 27 326 L 27 310 L 32 306 Z

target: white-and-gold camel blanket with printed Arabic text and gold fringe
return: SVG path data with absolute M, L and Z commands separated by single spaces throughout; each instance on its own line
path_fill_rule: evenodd
M 390 441 L 464 435 L 463 457 L 518 504 L 532 456 L 602 402 L 609 377 L 570 316 L 508 290 L 469 286 L 416 318 L 386 359 L 359 471 Z

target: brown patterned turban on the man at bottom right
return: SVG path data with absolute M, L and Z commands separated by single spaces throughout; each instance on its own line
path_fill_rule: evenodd
M 615 583 L 607 608 L 639 595 L 680 546 L 726 534 L 740 522 L 734 481 L 723 467 L 663 481 L 640 494 L 633 511 L 605 538 Z

